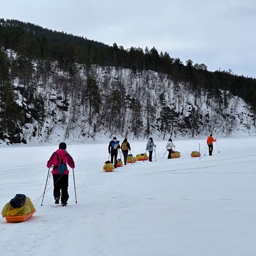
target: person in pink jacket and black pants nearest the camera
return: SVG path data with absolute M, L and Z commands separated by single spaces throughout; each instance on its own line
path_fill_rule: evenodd
M 59 143 L 59 149 L 53 152 L 52 156 L 47 162 L 47 167 L 53 166 L 52 177 L 53 177 L 53 196 L 55 199 L 55 204 L 59 204 L 60 190 L 61 190 L 61 204 L 66 206 L 69 199 L 68 186 L 69 186 L 69 170 L 68 168 L 63 170 L 60 174 L 58 169 L 59 164 L 67 164 L 74 169 L 75 163 L 70 154 L 66 151 L 67 145 L 65 142 Z M 65 167 L 65 166 L 64 166 Z

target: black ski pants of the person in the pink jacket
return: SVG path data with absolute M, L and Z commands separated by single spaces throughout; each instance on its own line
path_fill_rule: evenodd
M 69 175 L 68 174 L 53 174 L 53 196 L 60 198 L 61 190 L 61 203 L 67 203 L 69 199 L 68 186 L 69 186 Z

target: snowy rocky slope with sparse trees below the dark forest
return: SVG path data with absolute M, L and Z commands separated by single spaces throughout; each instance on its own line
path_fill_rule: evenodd
M 17 58 L 11 50 L 7 56 L 10 61 Z M 255 113 L 229 91 L 212 92 L 200 84 L 191 88 L 152 70 L 76 64 L 70 77 L 57 62 L 51 62 L 49 70 L 39 60 L 31 65 L 31 84 L 25 86 L 20 77 L 12 81 L 22 117 L 20 140 L 28 143 L 84 142 L 113 134 L 135 139 L 256 135 Z M 101 99 L 91 122 L 85 96 L 89 76 L 95 78 Z

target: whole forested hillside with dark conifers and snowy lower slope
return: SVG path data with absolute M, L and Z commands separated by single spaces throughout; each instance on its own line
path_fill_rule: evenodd
M 256 79 L 0 19 L 0 139 L 255 135 Z

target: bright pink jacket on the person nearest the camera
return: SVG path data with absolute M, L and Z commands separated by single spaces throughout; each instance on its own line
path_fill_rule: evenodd
M 57 159 L 57 154 L 59 157 L 59 162 Z M 74 160 L 71 157 L 71 155 L 69 153 L 67 153 L 66 150 L 56 150 L 56 152 L 54 152 L 52 154 L 52 156 L 50 157 L 50 159 L 48 160 L 47 165 L 46 165 L 48 168 L 50 168 L 51 166 L 56 167 L 56 168 L 53 168 L 52 174 L 59 174 L 58 173 L 58 165 L 59 165 L 59 163 L 61 163 L 61 158 L 63 158 L 63 164 L 68 164 L 72 169 L 75 168 Z M 67 169 L 64 174 L 69 174 L 69 170 Z

